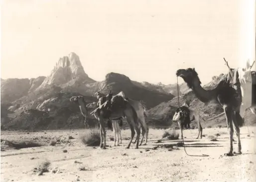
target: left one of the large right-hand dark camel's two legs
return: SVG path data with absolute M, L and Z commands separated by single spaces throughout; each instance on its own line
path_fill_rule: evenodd
M 225 156 L 233 156 L 233 134 L 234 134 L 234 129 L 233 129 L 233 122 L 232 122 L 232 115 L 234 114 L 234 111 L 231 106 L 225 105 L 224 107 L 224 112 L 226 115 L 226 120 L 227 120 L 227 126 L 228 126 L 228 132 L 229 132 L 229 142 L 230 142 L 230 148 L 229 152 L 224 154 Z

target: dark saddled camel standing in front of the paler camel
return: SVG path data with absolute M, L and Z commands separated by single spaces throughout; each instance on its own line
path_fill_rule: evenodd
M 86 102 L 83 98 L 83 96 L 75 96 L 70 98 L 71 101 L 77 101 L 79 103 L 80 109 L 84 109 L 83 113 L 86 115 L 86 118 L 88 116 L 87 108 L 86 108 Z M 83 105 L 81 107 L 81 104 Z M 108 109 L 107 107 L 110 107 Z M 122 96 L 115 95 L 112 97 L 112 99 L 107 100 L 106 102 L 103 102 L 103 97 L 100 98 L 100 107 L 97 110 L 93 111 L 93 114 L 95 118 L 98 119 L 100 122 L 100 135 L 101 135 L 101 143 L 100 148 L 106 149 L 106 130 L 105 130 L 105 120 L 106 119 L 117 119 L 120 117 L 126 117 L 128 124 L 130 126 L 131 130 L 131 139 L 127 146 L 127 149 L 129 149 L 131 141 L 135 135 L 135 131 L 137 133 L 137 140 L 139 141 L 139 135 L 140 135 L 140 123 L 137 120 L 137 114 L 134 110 L 134 108 L 131 106 L 131 104 L 125 100 Z M 87 119 L 85 120 L 87 123 Z M 135 129 L 135 131 L 134 131 Z M 136 149 L 138 149 L 138 141 L 136 144 Z

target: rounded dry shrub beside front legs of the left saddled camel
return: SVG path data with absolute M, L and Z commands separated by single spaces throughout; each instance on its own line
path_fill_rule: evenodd
M 99 146 L 101 143 L 100 131 L 97 129 L 90 129 L 80 136 L 80 140 L 86 146 Z

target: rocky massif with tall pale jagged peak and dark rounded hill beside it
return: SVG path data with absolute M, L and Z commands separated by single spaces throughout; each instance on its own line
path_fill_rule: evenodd
M 148 108 L 174 97 L 134 83 L 116 73 L 96 82 L 84 72 L 79 57 L 70 53 L 59 59 L 48 77 L 1 79 L 1 128 L 59 129 L 67 128 L 71 120 L 75 122 L 74 127 L 84 127 L 78 105 L 69 98 L 84 95 L 90 103 L 96 101 L 96 91 L 108 93 L 111 89 L 114 94 L 124 91 L 132 99 L 143 100 Z

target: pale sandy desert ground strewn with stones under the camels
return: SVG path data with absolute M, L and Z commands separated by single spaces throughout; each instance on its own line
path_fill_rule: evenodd
M 107 147 L 102 150 L 83 145 L 79 136 L 86 130 L 73 130 L 71 140 L 64 149 L 62 143 L 57 146 L 43 146 L 25 149 L 8 149 L 2 151 L 1 182 L 5 181 L 256 181 L 256 128 L 241 128 L 242 155 L 223 156 L 228 150 L 227 128 L 207 128 L 203 130 L 205 137 L 195 139 L 197 130 L 184 130 L 186 155 L 184 148 L 176 146 L 181 140 L 161 140 L 164 130 L 149 130 L 148 145 L 134 149 L 125 149 L 128 144 L 126 137 L 130 137 L 129 130 L 122 130 L 123 144 L 118 147 Z M 252 131 L 254 133 L 252 133 Z M 209 135 L 217 136 L 218 141 L 210 141 Z M 1 132 L 3 140 L 30 140 L 47 143 L 51 138 L 68 137 L 69 131 L 46 132 Z M 107 145 L 112 145 L 110 136 L 113 132 L 107 130 Z M 237 150 L 237 138 L 234 135 L 234 150 Z M 173 150 L 157 145 L 173 144 Z M 1 145 L 3 146 L 3 145 Z M 209 155 L 207 157 L 202 155 Z M 33 169 L 48 160 L 51 164 L 49 172 L 38 176 Z M 76 162 L 75 162 L 76 161 Z

